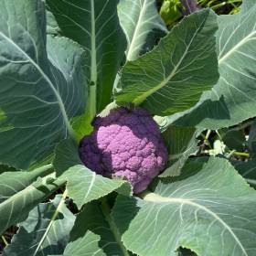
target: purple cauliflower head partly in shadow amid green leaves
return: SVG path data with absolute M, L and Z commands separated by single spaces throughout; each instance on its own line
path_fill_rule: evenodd
M 80 142 L 80 159 L 102 176 L 120 176 L 143 191 L 164 169 L 167 150 L 154 119 L 143 109 L 113 109 L 96 117 L 94 131 Z

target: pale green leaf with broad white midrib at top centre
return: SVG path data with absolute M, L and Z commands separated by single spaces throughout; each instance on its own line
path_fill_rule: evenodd
M 137 59 L 152 49 L 167 28 L 158 15 L 155 0 L 121 0 L 118 16 L 127 39 L 126 59 Z

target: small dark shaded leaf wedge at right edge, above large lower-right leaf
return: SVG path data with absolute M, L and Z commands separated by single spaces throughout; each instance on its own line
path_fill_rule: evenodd
M 251 185 L 256 188 L 256 161 L 232 161 L 232 165 L 239 171 L 240 175 Z

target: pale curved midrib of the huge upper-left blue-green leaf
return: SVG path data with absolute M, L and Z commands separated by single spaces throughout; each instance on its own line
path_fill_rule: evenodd
M 65 106 L 64 103 L 59 95 L 59 91 L 56 90 L 56 88 L 54 87 L 53 83 L 51 82 L 51 80 L 49 80 L 47 74 L 39 67 L 39 65 L 30 58 L 30 56 L 27 55 L 27 52 L 25 52 L 22 48 L 20 48 L 18 45 L 16 45 L 16 43 L 9 37 L 6 37 L 5 34 L 3 32 L 0 31 L 0 36 L 3 37 L 8 43 L 10 43 L 14 48 L 16 48 L 19 52 L 21 52 L 26 58 L 27 60 L 37 69 L 37 71 L 40 73 L 40 75 L 42 76 L 42 78 L 44 80 L 47 81 L 49 88 L 53 91 L 58 104 L 59 104 L 59 109 L 60 112 L 62 114 L 64 123 L 66 124 L 66 128 L 69 131 L 70 135 L 73 135 L 73 129 L 71 128 L 71 125 L 69 123 L 69 117 L 67 115 L 67 112 L 65 110 Z

